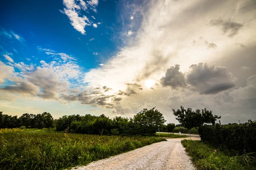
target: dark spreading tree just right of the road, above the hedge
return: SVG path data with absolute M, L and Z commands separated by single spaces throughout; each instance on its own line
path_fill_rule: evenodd
M 215 121 L 221 118 L 221 116 L 212 115 L 212 111 L 208 111 L 206 108 L 192 111 L 192 108 L 186 110 L 183 106 L 180 106 L 180 109 L 177 111 L 175 111 L 175 109 L 172 109 L 172 111 L 173 114 L 177 116 L 176 119 L 180 124 L 189 130 L 193 127 L 200 127 L 204 125 L 204 123 L 212 123 L 212 125 L 215 125 Z

